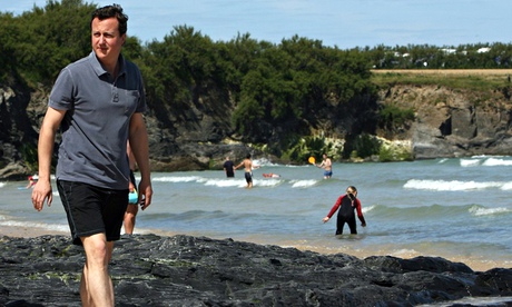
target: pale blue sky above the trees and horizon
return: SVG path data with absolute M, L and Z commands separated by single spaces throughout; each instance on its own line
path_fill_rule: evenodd
M 19 14 L 46 0 L 0 0 Z M 297 34 L 341 49 L 511 43 L 512 0 L 112 0 L 128 14 L 128 34 L 161 41 L 176 26 L 214 41 L 249 33 L 279 43 Z

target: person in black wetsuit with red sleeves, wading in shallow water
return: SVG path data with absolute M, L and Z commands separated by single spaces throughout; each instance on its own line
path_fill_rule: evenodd
M 357 189 L 355 187 L 349 186 L 346 188 L 346 194 L 339 196 L 328 215 L 323 218 L 323 221 L 327 222 L 337 209 L 339 209 L 339 211 L 337 212 L 336 235 L 343 234 L 343 227 L 345 226 L 345 222 L 348 224 L 351 234 L 357 234 L 355 211 L 357 211 L 357 217 L 361 220 L 361 226 L 366 227 L 366 221 L 364 220 L 363 211 L 361 209 L 361 201 L 357 199 Z

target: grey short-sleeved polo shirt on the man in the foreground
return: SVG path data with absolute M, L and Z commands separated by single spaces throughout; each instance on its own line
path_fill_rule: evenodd
M 61 122 L 57 179 L 128 189 L 126 143 L 130 118 L 146 110 L 142 78 L 119 58 L 114 79 L 92 51 L 61 70 L 49 107 L 66 110 Z

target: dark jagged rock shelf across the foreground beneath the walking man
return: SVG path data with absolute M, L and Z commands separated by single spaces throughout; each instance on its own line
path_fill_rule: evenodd
M 85 257 L 69 237 L 0 241 L 0 306 L 80 306 Z M 450 301 L 503 296 L 510 299 L 492 306 L 512 306 L 512 269 L 181 235 L 122 237 L 110 275 L 116 306 L 486 306 Z

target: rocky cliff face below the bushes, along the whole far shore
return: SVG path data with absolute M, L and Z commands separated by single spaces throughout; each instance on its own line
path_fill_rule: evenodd
M 416 159 L 510 155 L 510 88 L 475 92 L 436 86 L 391 86 L 381 90 L 378 101 L 366 99 L 351 101 L 351 106 L 326 106 L 324 111 L 309 112 L 305 122 L 309 122 L 311 131 L 327 129 L 325 133 L 342 138 L 342 142 L 344 136 L 354 137 L 365 132 L 400 143 L 401 147 L 405 143 L 411 147 L 412 156 Z M 35 171 L 36 161 L 29 161 L 27 152 L 30 148 L 37 148 L 48 95 L 49 90 L 45 89 L 0 89 L 0 178 L 23 179 Z M 416 115 L 415 120 L 395 131 L 380 130 L 375 122 L 380 105 L 412 108 Z M 214 106 L 194 109 L 185 118 L 185 123 L 183 119 L 174 118 L 173 115 L 163 117 L 159 113 L 161 110 L 150 108 L 146 122 L 151 169 L 218 169 L 226 156 L 234 160 L 242 159 L 247 152 L 263 157 L 263 152 L 252 145 L 243 143 L 232 131 L 229 118 L 234 108 L 233 103 L 224 103 L 221 111 Z M 318 126 L 322 122 L 323 128 Z M 269 129 L 274 129 L 273 139 L 276 139 L 283 127 Z

